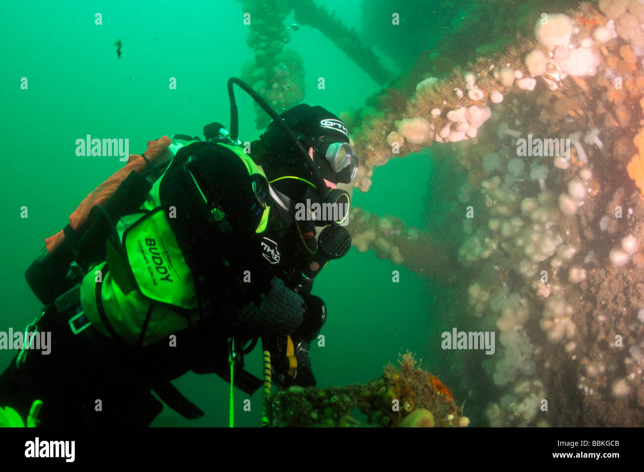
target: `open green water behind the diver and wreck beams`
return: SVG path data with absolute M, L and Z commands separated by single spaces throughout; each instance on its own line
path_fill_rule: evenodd
M 357 2 L 356 2 L 357 4 Z M 348 26 L 359 24 L 358 6 L 343 8 Z M 95 14 L 102 14 L 102 25 Z M 24 281 L 24 270 L 44 245 L 44 238 L 66 225 L 69 214 L 91 190 L 122 166 L 118 157 L 78 157 L 75 140 L 129 138 L 130 153 L 141 153 L 147 140 L 162 135 L 200 135 L 214 120 L 229 122 L 225 82 L 239 76 L 253 57 L 245 44 L 247 26 L 236 1 L 112 1 L 91 3 L 26 2 L 0 6 L 5 19 L 0 64 L 4 156 L 0 178 L 3 231 L 0 254 L 0 330 L 16 330 L 41 309 Z M 289 24 L 292 21 L 287 21 Z M 302 26 L 287 48 L 303 57 L 308 104 L 334 113 L 363 106 L 380 90 L 354 62 L 317 30 Z M 122 41 L 117 58 L 115 41 Z M 317 90 L 317 77 L 327 88 Z M 26 77 L 28 88 L 21 89 Z M 176 90 L 169 80 L 176 78 Z M 258 137 L 251 99 L 237 94 L 240 134 Z M 376 169 L 371 190 L 355 192 L 354 205 L 377 214 L 395 214 L 422 227 L 431 164 L 406 158 Z M 28 218 L 21 218 L 26 207 Z M 392 271 L 400 283 L 392 283 Z M 354 249 L 332 261 L 317 278 L 314 294 L 328 307 L 325 347 L 312 347 L 317 385 L 366 382 L 382 373 L 409 349 L 425 359 L 424 367 L 442 375 L 439 332 L 451 326 L 433 307 L 440 287 L 374 252 Z M 431 348 L 431 350 L 430 350 Z M 433 350 L 433 351 L 432 351 Z M 5 368 L 13 351 L 0 351 Z M 247 357 L 252 373 L 261 373 L 261 353 Z M 214 375 L 193 373 L 175 385 L 206 415 L 188 421 L 165 408 L 153 426 L 226 426 L 228 385 Z M 236 391 L 236 401 L 245 394 Z M 260 424 L 260 393 L 250 412 L 236 414 L 240 426 Z

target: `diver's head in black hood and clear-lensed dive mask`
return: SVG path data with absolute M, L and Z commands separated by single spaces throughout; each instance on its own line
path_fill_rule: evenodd
M 293 131 L 330 188 L 350 184 L 357 174 L 359 158 L 349 144 L 345 124 L 321 106 L 299 104 L 279 115 Z M 283 176 L 311 180 L 312 173 L 303 162 L 301 151 L 285 136 L 281 128 L 270 122 L 261 135 L 270 157 L 262 163 L 269 180 Z

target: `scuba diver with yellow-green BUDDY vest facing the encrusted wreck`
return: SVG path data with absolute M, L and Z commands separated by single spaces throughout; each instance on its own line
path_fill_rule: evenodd
M 272 118 L 246 147 L 233 84 Z M 308 350 L 327 309 L 310 292 L 350 248 L 350 198 L 337 184 L 354 180 L 359 159 L 321 106 L 278 115 L 240 79 L 228 91 L 230 131 L 213 123 L 205 140 L 149 142 L 46 240 L 26 271 L 46 306 L 0 375 L 0 426 L 17 415 L 39 426 L 147 426 L 163 408 L 152 392 L 202 417 L 170 381 L 217 373 L 251 395 L 262 381 L 243 355 L 258 339 L 265 382 L 272 372 L 280 386 L 316 384 Z M 45 333 L 48 355 L 30 349 Z

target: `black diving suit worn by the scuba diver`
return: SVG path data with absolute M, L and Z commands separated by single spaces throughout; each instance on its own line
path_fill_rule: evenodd
M 168 403 L 182 403 L 168 381 L 189 370 L 225 371 L 230 335 L 251 339 L 298 330 L 305 301 L 285 283 L 306 258 L 294 248 L 297 230 L 285 226 L 271 208 L 267 230 L 252 231 L 256 222 L 247 220 L 256 214 L 256 196 L 238 156 L 219 146 L 195 148 L 198 169 L 209 178 L 202 184 L 216 187 L 231 235 L 219 238 L 216 231 L 194 225 L 200 216 L 198 200 L 186 190 L 189 182 L 181 166 L 173 165 L 176 162 L 163 177 L 160 197 L 164 207 L 176 207 L 176 218 L 169 222 L 193 274 L 202 273 L 196 285 L 204 297 L 204 319 L 176 333 L 175 348 L 169 348 L 167 340 L 130 348 L 92 326 L 73 334 L 70 319 L 79 308 L 75 288 L 46 307 L 36 323 L 40 332 L 52 333 L 51 354 L 28 351 L 20 365 L 16 356 L 0 376 L 0 406 L 11 406 L 24 418 L 32 402 L 40 399 L 41 426 L 147 426 L 162 410 L 151 390 Z M 267 203 L 272 203 L 269 197 Z M 225 269 L 219 263 L 222 258 L 228 261 Z M 246 270 L 252 283 L 243 282 Z M 298 360 L 310 367 L 308 344 L 304 347 Z M 97 399 L 102 402 L 98 413 Z M 187 411 L 190 414 L 190 408 Z

